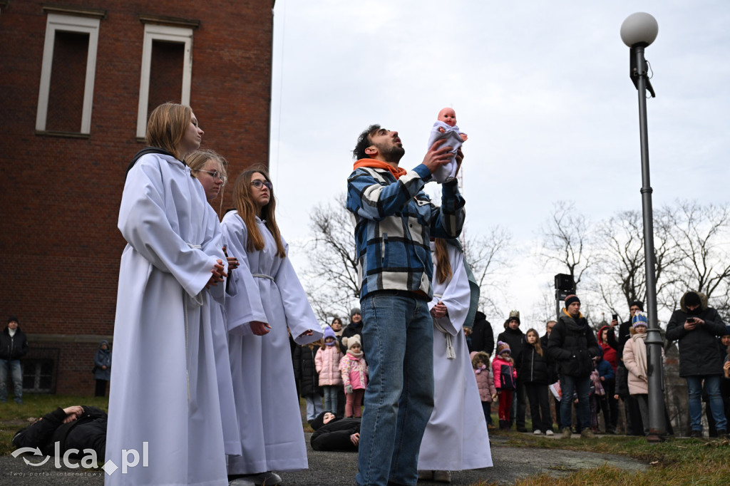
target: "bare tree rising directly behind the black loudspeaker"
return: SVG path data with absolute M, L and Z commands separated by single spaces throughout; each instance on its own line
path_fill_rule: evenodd
M 575 209 L 574 203 L 558 201 L 541 233 L 539 256 L 543 268 L 567 269 L 577 286 L 585 272 L 596 263 L 591 223 Z

